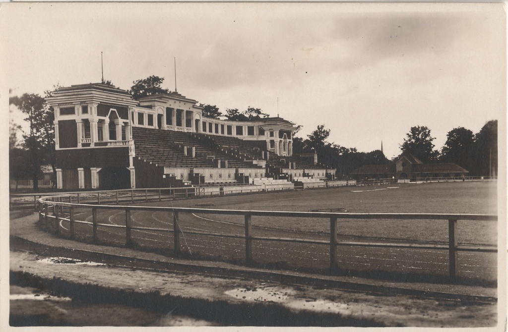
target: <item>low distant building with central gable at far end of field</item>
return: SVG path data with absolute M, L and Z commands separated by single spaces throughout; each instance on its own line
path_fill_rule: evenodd
M 423 163 L 410 153 L 403 154 L 395 162 L 378 165 L 362 165 L 350 175 L 362 179 L 426 179 L 461 178 L 469 173 L 453 162 Z

